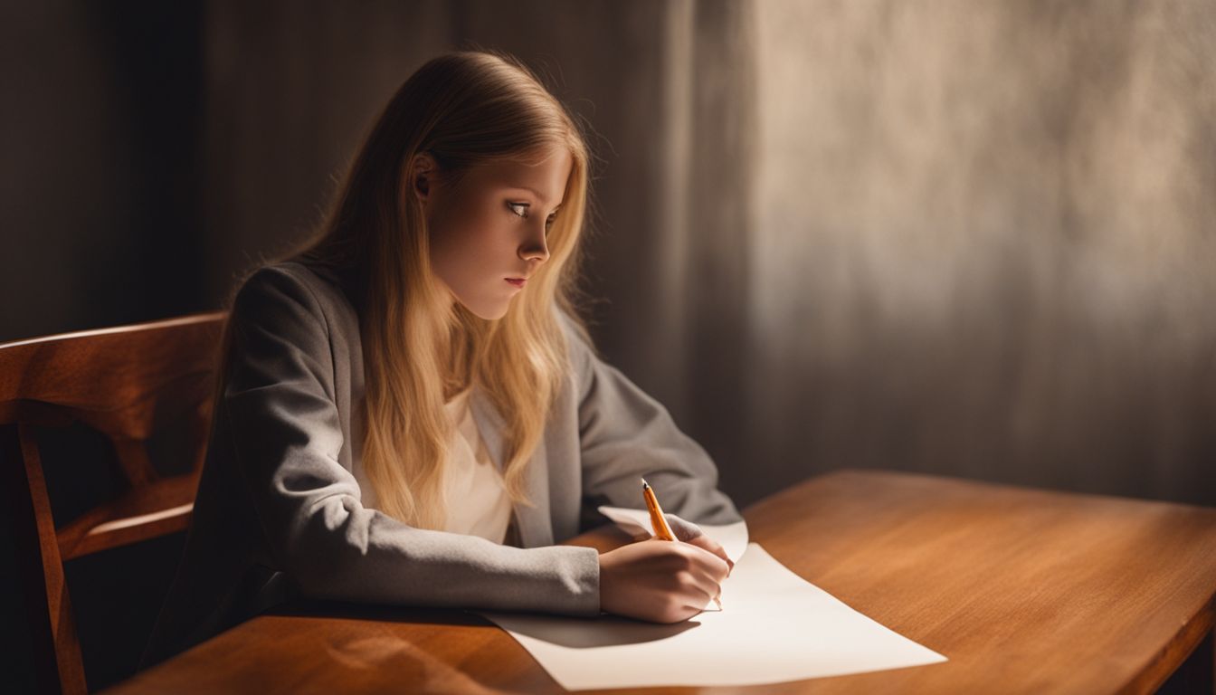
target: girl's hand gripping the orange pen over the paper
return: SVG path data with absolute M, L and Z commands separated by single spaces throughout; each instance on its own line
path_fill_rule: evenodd
M 658 623 L 685 621 L 719 596 L 728 571 L 721 557 L 691 543 L 631 543 L 599 555 L 599 607 Z

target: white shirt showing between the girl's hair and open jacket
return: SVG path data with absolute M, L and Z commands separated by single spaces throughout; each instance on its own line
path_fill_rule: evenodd
M 466 388 L 444 405 L 447 417 L 456 424 L 444 469 L 444 499 L 447 506 L 444 531 L 503 543 L 511 523 L 511 498 L 507 497 L 502 473 L 490 458 L 469 410 L 471 392 L 472 389 Z M 364 472 L 362 461 L 353 461 L 353 469 L 364 508 L 376 509 L 376 489 Z

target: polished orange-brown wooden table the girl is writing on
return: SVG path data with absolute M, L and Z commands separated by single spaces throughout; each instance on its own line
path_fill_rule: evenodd
M 840 471 L 745 516 L 790 570 L 950 661 L 630 693 L 1148 693 L 1193 652 L 1188 676 L 1212 691 L 1216 509 Z M 574 542 L 626 540 L 606 528 Z M 477 616 L 345 604 L 259 616 L 107 690 L 562 691 Z

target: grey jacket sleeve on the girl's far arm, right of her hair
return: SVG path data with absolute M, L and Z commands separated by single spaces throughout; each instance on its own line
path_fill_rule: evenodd
M 646 477 L 665 512 L 696 523 L 742 520 L 717 489 L 717 467 L 705 449 L 663 404 L 601 360 L 569 316 L 559 312 L 559 321 L 578 381 L 584 517 L 593 519 L 603 504 L 644 509 Z

